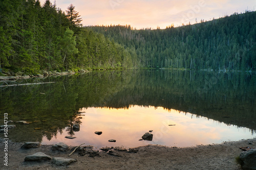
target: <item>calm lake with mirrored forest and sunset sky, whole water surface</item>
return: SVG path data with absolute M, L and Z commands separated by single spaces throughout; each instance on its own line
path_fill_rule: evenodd
M 256 76 L 248 72 L 133 69 L 18 81 L 27 82 L 55 83 L 0 87 L 1 125 L 4 113 L 31 123 L 9 123 L 17 142 L 190 147 L 256 137 Z M 153 140 L 139 141 L 150 130 Z

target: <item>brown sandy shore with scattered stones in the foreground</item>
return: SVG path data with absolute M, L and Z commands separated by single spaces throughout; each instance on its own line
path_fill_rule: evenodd
M 113 154 L 99 152 L 99 156 L 80 156 L 73 150 L 67 152 L 52 151 L 52 145 L 39 148 L 21 149 L 23 143 L 8 142 L 8 166 L 3 169 L 208 169 L 239 170 L 235 158 L 244 152 L 240 148 L 256 148 L 256 138 L 240 141 L 228 141 L 221 144 L 197 145 L 196 147 L 166 147 L 163 145 L 145 145 L 132 150 L 137 152 L 114 151 Z M 4 149 L 4 139 L 0 138 L 0 148 Z M 81 147 L 86 146 L 86 144 Z M 72 146 L 70 146 L 72 148 Z M 74 148 L 73 148 L 74 149 Z M 24 161 L 28 155 L 43 152 L 51 157 L 77 159 L 68 166 L 52 164 L 51 161 Z M 4 159 L 2 157 L 2 159 Z M 3 161 L 2 161 L 3 163 Z

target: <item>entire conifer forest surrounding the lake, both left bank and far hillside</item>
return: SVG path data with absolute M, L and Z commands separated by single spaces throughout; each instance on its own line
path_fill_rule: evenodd
M 75 6 L 62 11 L 50 0 L 43 5 L 3 0 L 0 11 L 0 74 L 137 67 L 256 70 L 255 11 L 156 30 L 82 27 Z

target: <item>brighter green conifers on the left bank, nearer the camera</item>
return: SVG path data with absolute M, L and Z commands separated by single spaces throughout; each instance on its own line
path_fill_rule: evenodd
M 79 17 L 73 5 L 65 13 L 49 0 L 0 1 L 0 71 L 132 67 L 124 47 L 82 28 Z

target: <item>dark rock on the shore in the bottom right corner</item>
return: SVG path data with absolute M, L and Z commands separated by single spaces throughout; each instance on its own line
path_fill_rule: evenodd
M 242 152 L 240 159 L 244 162 L 242 169 L 256 169 L 256 149 Z

